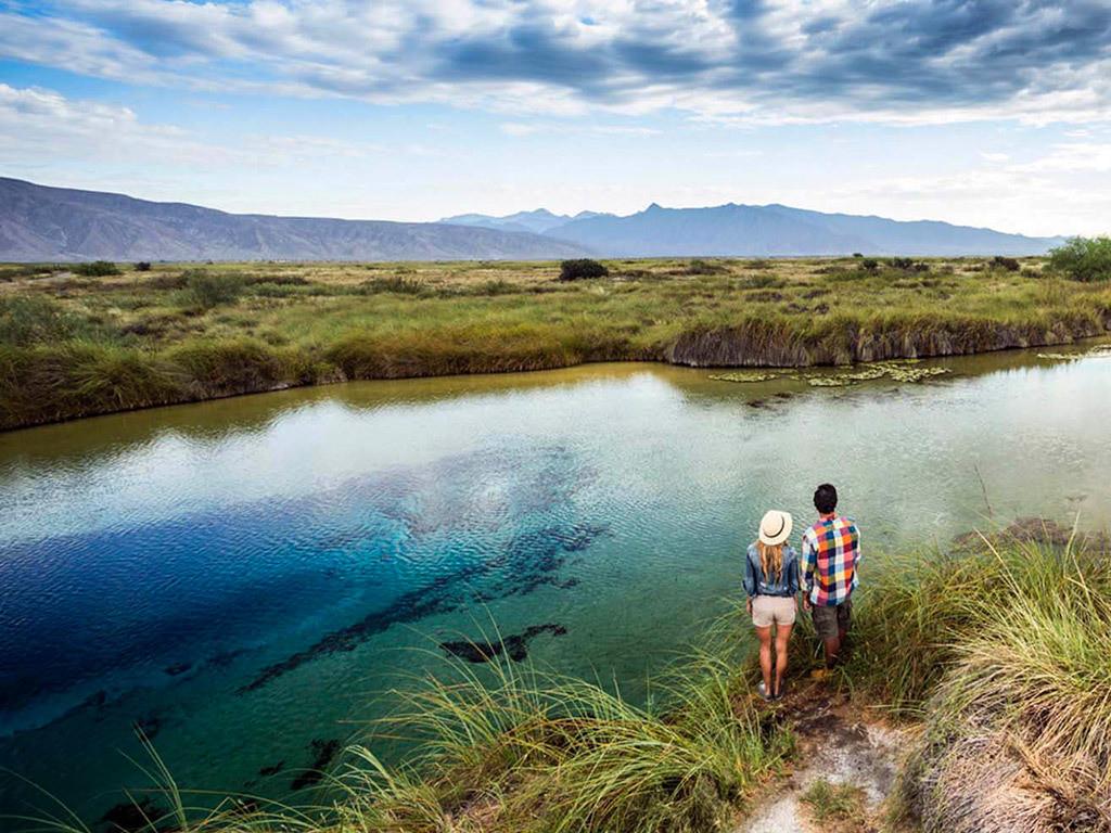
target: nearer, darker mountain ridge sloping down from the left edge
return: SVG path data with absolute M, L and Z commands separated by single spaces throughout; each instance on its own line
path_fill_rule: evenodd
M 230 214 L 0 178 L 0 260 L 549 260 L 531 232 L 448 223 Z

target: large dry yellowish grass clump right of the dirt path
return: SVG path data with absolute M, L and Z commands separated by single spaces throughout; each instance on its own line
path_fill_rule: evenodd
M 940 682 L 921 692 L 901 790 L 924 830 L 1111 831 L 1111 563 L 1098 543 L 990 542 L 960 581 L 927 581 Z M 883 664 L 901 689 L 908 661 Z

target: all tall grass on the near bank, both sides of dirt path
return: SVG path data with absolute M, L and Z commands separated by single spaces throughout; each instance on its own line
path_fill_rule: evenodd
M 848 661 L 824 684 L 919 726 L 890 830 L 1111 831 L 1109 556 L 1107 538 L 1028 522 L 869 570 Z M 373 737 L 352 746 L 316 807 L 229 799 L 192 812 L 156 757 L 161 786 L 134 796 L 136 827 L 733 830 L 792 762 L 799 714 L 755 696 L 749 630 L 739 603 L 647 704 L 508 661 L 414 681 L 374 735 L 419 751 L 388 766 Z M 803 623 L 795 678 L 813 666 L 812 648 Z

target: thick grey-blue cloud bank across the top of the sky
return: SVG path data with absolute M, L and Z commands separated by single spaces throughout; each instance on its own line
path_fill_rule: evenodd
M 69 0 L 0 54 L 87 74 L 720 123 L 1111 119 L 1102 0 Z

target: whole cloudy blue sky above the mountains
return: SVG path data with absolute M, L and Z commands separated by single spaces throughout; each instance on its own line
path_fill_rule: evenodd
M 1111 232 L 1111 0 L 0 0 L 0 175 L 436 220 Z

